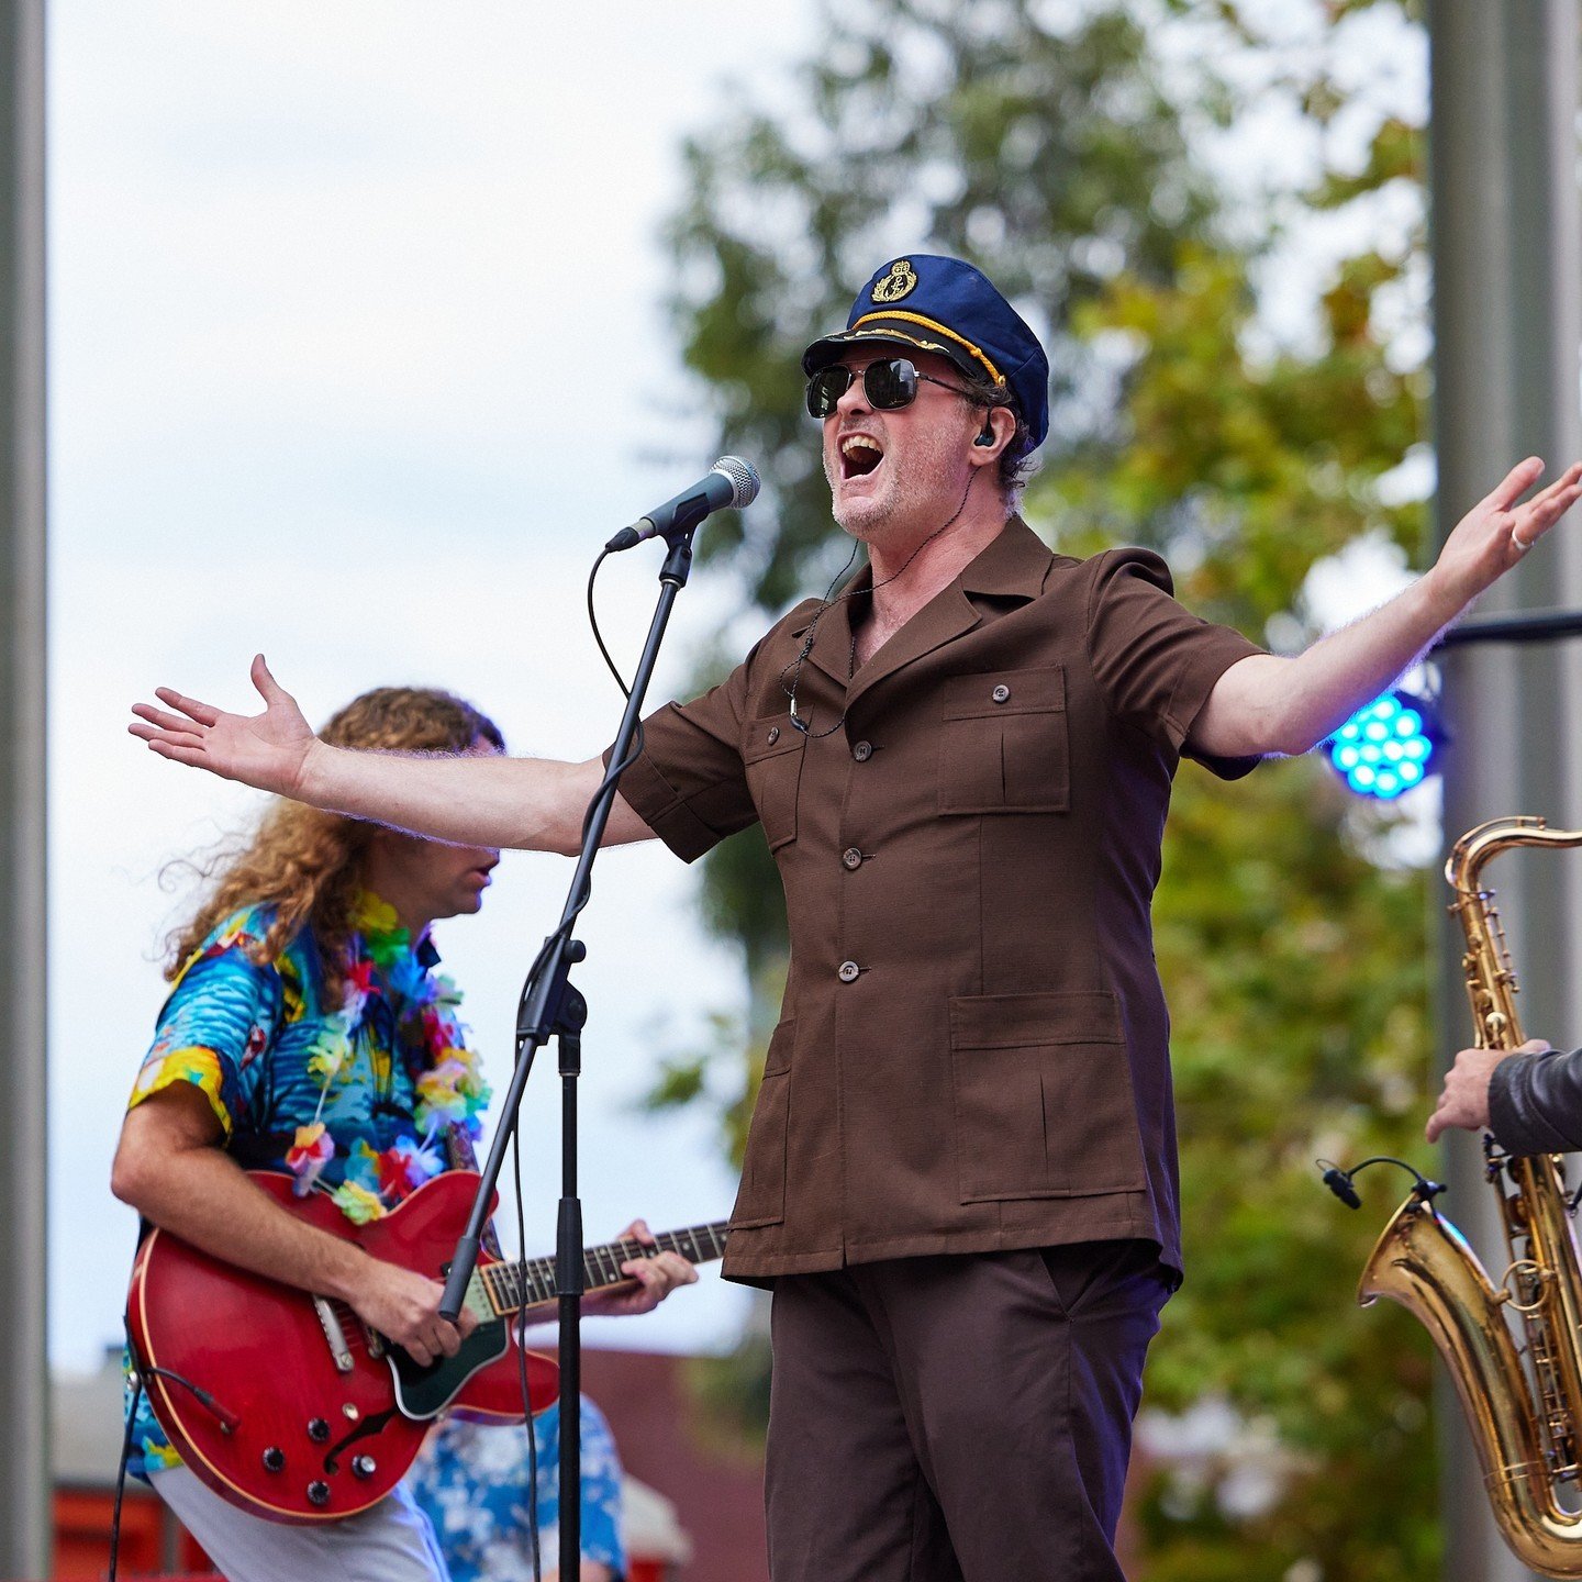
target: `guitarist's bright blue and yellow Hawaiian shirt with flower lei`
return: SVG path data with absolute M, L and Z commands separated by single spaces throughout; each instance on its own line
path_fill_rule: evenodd
M 236 913 L 193 952 L 128 1107 L 188 1082 L 244 1169 L 293 1171 L 332 1191 L 353 1220 L 373 1218 L 446 1168 L 446 1123 L 473 1130 L 487 1101 L 452 1014 L 457 995 L 433 971 L 429 938 L 413 946 L 377 897 L 362 899 L 361 960 L 340 1006 L 326 1003 L 310 930 L 259 965 L 271 921 L 263 906 Z M 128 1470 L 142 1478 L 174 1465 L 144 1397 Z

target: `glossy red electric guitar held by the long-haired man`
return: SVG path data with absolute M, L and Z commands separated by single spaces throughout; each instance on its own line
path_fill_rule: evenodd
M 467 1224 L 478 1175 L 449 1171 L 397 1209 L 353 1224 L 324 1193 L 250 1172 L 282 1207 L 364 1251 L 435 1280 Z M 633 1258 L 676 1251 L 699 1264 L 725 1251 L 725 1221 L 668 1231 L 658 1245 L 587 1248 L 589 1291 L 630 1281 Z M 149 1402 L 182 1460 L 215 1493 L 275 1522 L 335 1520 L 384 1498 L 445 1408 L 522 1421 L 516 1326 L 555 1299 L 552 1258 L 505 1262 L 483 1253 L 467 1288 L 478 1327 L 454 1357 L 419 1367 L 345 1302 L 248 1274 L 166 1231 L 138 1250 L 127 1299 Z M 533 1411 L 555 1398 L 558 1368 L 525 1353 Z

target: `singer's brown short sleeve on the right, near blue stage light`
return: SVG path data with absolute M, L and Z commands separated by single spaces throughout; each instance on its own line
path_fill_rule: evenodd
M 1109 551 L 1095 568 L 1087 622 L 1093 679 L 1117 718 L 1182 751 L 1215 682 L 1266 650 L 1183 609 L 1172 596 L 1169 568 L 1152 551 Z M 1190 750 L 1188 756 L 1226 780 L 1258 763 Z

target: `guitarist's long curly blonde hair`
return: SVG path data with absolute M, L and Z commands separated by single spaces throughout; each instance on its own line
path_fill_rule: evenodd
M 375 687 L 335 713 L 320 737 L 364 751 L 465 753 L 479 742 L 505 751 L 505 737 L 486 713 L 433 687 Z M 193 918 L 166 940 L 165 976 L 176 978 L 221 919 L 267 905 L 274 921 L 256 946 L 258 960 L 275 960 L 312 924 L 334 1003 L 345 987 L 362 862 L 378 827 L 277 797 L 245 846 L 221 851 L 207 865 L 191 864 L 209 889 Z

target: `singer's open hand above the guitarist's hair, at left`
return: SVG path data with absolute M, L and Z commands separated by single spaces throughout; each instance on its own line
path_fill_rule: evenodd
M 165 709 L 133 704 L 138 718 L 127 729 L 161 758 L 207 769 L 223 780 L 240 780 L 259 791 L 296 796 L 318 737 L 296 699 L 269 674 L 261 653 L 253 658 L 252 677 L 264 699 L 263 713 L 226 713 L 169 687 L 157 687 L 153 696 Z

